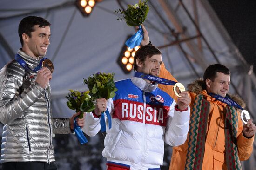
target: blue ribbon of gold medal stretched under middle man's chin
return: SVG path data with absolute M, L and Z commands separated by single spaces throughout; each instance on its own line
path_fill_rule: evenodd
M 177 82 L 172 81 L 172 80 L 156 77 L 156 76 L 149 75 L 149 74 L 144 74 L 142 72 L 134 72 L 134 77 L 143 78 L 143 79 L 147 79 L 147 80 L 150 80 L 150 81 L 156 81 L 157 83 L 160 83 L 160 84 L 163 84 L 163 85 L 175 85 L 177 83 Z

